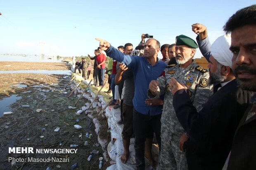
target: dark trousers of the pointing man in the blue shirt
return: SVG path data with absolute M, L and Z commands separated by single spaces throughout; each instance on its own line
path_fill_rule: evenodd
M 133 108 L 133 132 L 135 135 L 135 159 L 137 170 L 145 170 L 145 140 L 149 129 L 153 129 L 161 151 L 161 114 L 150 116 L 141 114 Z

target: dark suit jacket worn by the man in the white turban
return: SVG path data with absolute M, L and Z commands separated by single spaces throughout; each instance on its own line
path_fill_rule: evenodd
M 176 116 L 189 135 L 183 145 L 189 170 L 222 169 L 250 97 L 251 92 L 238 88 L 236 80 L 232 80 L 198 112 L 184 89 L 174 94 Z

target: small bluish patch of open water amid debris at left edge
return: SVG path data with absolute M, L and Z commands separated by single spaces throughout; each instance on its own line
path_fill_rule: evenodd
M 0 117 L 3 116 L 4 112 L 11 112 L 12 109 L 9 108 L 9 106 L 19 99 L 21 99 L 21 97 L 14 94 L 8 98 L 3 98 L 2 100 L 0 100 Z

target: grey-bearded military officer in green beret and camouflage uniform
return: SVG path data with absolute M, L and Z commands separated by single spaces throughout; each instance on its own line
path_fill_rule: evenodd
M 156 98 L 164 94 L 164 108 L 161 117 L 161 170 L 187 170 L 183 143 L 187 135 L 179 123 L 173 108 L 173 95 L 169 82 L 172 77 L 188 88 L 190 100 L 201 110 L 212 95 L 212 86 L 208 84 L 209 71 L 197 65 L 192 59 L 197 43 L 190 37 L 176 37 L 175 54 L 177 64 L 168 65 L 164 76 L 152 80 L 149 84 L 148 97 Z

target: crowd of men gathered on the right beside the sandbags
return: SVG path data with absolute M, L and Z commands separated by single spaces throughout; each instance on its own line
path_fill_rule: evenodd
M 238 10 L 223 29 L 226 34 L 213 44 L 200 23 L 192 25 L 197 42 L 178 35 L 175 44 L 160 46 L 153 38 L 145 42 L 142 34 L 135 50 L 130 43 L 115 49 L 96 38 L 93 75 L 102 69 L 104 74 L 102 50 L 113 58 L 107 92 L 113 94 L 111 105 L 121 107 L 123 163 L 134 135 L 137 169 L 145 169 L 145 157 L 155 166 L 155 134 L 159 169 L 256 169 L 256 5 Z M 209 70 L 193 60 L 197 48 Z

